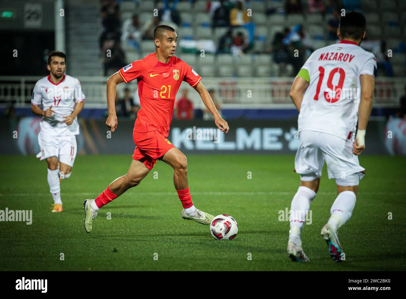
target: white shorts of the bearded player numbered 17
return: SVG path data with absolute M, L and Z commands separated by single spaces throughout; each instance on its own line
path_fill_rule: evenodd
M 40 158 L 40 160 L 55 156 L 59 162 L 73 166 L 78 147 L 76 135 L 53 136 L 40 131 L 38 143 L 41 153 L 37 155 L 37 158 Z

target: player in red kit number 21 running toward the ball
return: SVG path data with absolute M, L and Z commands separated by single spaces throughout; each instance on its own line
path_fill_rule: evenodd
M 218 113 L 212 98 L 201 83 L 201 76 L 186 62 L 173 56 L 176 50 L 177 34 L 172 27 L 161 25 L 153 33 L 155 53 L 134 61 L 107 80 L 108 118 L 106 125 L 110 131 L 117 128 L 114 107 L 117 84 L 138 82 L 141 109 L 134 124 L 133 140 L 136 144 L 132 163 L 126 175 L 114 180 L 96 199 L 86 199 L 84 205 L 84 229 L 92 231 L 97 211 L 110 201 L 137 186 L 147 176 L 157 160 L 169 164 L 173 170 L 173 183 L 183 205 L 181 216 L 201 224 L 210 224 L 214 216 L 194 207 L 190 196 L 186 156 L 167 139 L 173 115 L 176 93 L 186 81 L 201 96 L 207 109 L 213 114 L 216 126 L 223 132 L 229 126 Z

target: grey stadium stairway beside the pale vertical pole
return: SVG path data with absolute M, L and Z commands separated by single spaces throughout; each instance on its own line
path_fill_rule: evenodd
M 67 74 L 71 76 L 101 76 L 99 35 L 100 5 L 97 0 L 65 1 Z

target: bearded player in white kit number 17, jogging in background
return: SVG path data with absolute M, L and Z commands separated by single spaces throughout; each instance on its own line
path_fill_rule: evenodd
M 41 153 L 37 158 L 47 161 L 48 184 L 54 199 L 52 212 L 62 212 L 60 179 L 71 176 L 75 162 L 76 135 L 79 134 L 77 116 L 84 106 L 84 94 L 79 80 L 64 74 L 66 55 L 63 52 L 51 52 L 47 64 L 50 75 L 35 84 L 31 111 L 43 116 L 38 135 Z

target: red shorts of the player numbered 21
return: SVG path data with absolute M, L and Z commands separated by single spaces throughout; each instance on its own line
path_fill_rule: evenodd
M 149 170 L 153 168 L 156 160 L 167 151 L 175 147 L 159 131 L 147 133 L 132 132 L 132 138 L 136 145 L 132 158 L 143 162 Z

